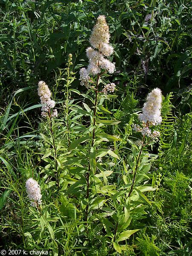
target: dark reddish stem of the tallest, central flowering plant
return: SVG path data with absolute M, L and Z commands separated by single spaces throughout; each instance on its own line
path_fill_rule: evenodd
M 101 75 L 101 74 L 100 74 Z M 96 81 L 96 90 L 95 90 L 95 104 L 94 104 L 94 110 L 93 110 L 93 135 L 92 135 L 92 143 L 91 143 L 91 147 L 93 147 L 94 145 L 94 139 L 95 139 L 95 123 L 96 123 L 96 109 L 97 109 L 97 95 L 98 95 L 98 85 L 99 85 L 99 78 L 100 75 L 97 76 L 97 81 Z M 90 163 L 89 163 L 89 169 L 87 172 L 87 193 L 86 193 L 86 198 L 89 198 L 89 177 L 90 177 Z M 88 203 L 86 206 L 86 221 L 87 221 L 87 217 L 88 217 Z

